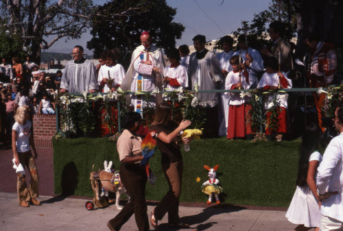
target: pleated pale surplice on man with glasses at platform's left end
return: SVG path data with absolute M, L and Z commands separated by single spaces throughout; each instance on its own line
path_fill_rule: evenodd
M 97 90 L 98 84 L 93 62 L 91 60 L 85 60 L 81 64 L 74 63 L 74 60 L 67 62 L 60 88 L 67 89 L 71 94 Z

